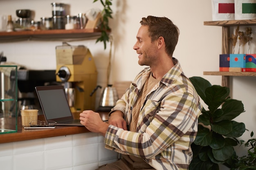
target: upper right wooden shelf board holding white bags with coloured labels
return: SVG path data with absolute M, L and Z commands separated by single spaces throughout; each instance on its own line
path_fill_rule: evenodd
M 226 21 L 204 21 L 204 25 L 211 26 L 253 26 L 256 20 L 226 20 Z

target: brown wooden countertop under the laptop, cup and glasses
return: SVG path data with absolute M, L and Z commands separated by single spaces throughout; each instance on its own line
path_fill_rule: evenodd
M 101 117 L 107 117 L 108 113 L 100 113 Z M 0 118 L 0 121 L 4 119 L 4 127 L 15 127 L 15 118 Z M 45 118 L 43 115 L 38 115 L 38 120 L 43 121 Z M 15 128 L 12 128 L 15 129 Z M 73 135 L 79 133 L 90 132 L 84 126 L 56 126 L 55 129 L 24 129 L 21 126 L 21 117 L 18 117 L 18 132 L 0 134 L 0 144 L 25 141 L 32 139 L 41 139 L 47 137 L 56 137 L 63 135 Z

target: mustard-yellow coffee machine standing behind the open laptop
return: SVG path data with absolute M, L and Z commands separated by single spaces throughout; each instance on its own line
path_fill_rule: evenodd
M 71 46 L 63 42 L 56 46 L 56 81 L 65 88 L 72 113 L 94 110 L 97 86 L 97 68 L 90 50 L 83 46 Z

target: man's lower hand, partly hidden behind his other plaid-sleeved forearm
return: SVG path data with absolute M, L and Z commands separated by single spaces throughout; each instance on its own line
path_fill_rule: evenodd
M 124 114 L 121 111 L 116 110 L 115 112 L 111 113 L 110 118 L 108 119 L 108 124 L 127 130 L 127 123 L 123 117 Z

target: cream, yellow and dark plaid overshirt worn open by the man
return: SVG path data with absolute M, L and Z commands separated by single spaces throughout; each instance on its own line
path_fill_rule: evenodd
M 157 170 L 189 169 L 193 157 L 190 145 L 202 110 L 192 83 L 178 60 L 173 58 L 173 62 L 175 66 L 147 94 L 136 132 L 109 125 L 104 139 L 106 148 L 141 157 Z M 132 107 L 150 73 L 149 67 L 141 71 L 110 113 L 121 110 L 129 125 Z

